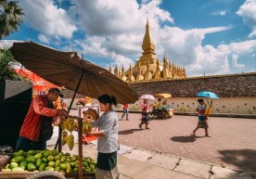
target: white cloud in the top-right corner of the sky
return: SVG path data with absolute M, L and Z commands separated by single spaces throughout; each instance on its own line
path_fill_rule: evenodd
M 246 2 L 239 7 L 237 15 L 243 18 L 243 21 L 252 29 L 249 37 L 256 35 L 256 1 L 246 0 Z

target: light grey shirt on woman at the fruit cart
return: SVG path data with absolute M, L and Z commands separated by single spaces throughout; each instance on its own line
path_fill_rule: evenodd
M 103 113 L 97 121 L 92 123 L 94 127 L 99 128 L 104 136 L 97 140 L 97 150 L 100 153 L 112 153 L 118 150 L 118 116 L 114 110 Z

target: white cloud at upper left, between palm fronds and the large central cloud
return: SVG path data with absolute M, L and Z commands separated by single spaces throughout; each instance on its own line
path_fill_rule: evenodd
M 55 6 L 52 0 L 21 0 L 20 5 L 25 22 L 42 33 L 38 36 L 42 42 L 47 43 L 51 37 L 70 39 L 77 29 L 67 12 Z

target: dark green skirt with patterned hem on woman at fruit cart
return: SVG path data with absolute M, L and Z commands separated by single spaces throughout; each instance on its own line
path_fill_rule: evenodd
M 97 153 L 96 179 L 117 179 L 117 151 L 113 153 Z

